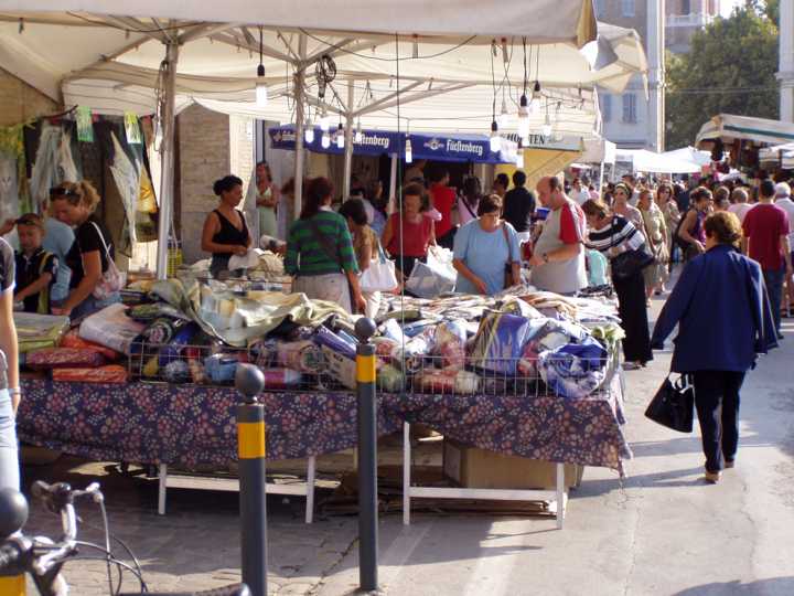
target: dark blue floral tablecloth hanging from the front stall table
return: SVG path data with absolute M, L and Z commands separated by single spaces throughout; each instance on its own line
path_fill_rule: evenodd
M 237 458 L 237 397 L 195 385 L 25 380 L 17 425 L 21 440 L 89 459 L 225 469 Z M 389 394 L 378 402 L 380 435 L 408 421 L 506 455 L 618 470 L 631 457 L 619 390 L 583 400 Z M 268 393 L 264 403 L 268 459 L 356 445 L 355 395 Z

